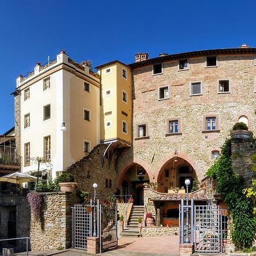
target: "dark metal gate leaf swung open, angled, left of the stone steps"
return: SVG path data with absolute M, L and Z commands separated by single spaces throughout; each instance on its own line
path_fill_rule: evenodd
M 100 253 L 117 247 L 117 205 L 100 205 Z

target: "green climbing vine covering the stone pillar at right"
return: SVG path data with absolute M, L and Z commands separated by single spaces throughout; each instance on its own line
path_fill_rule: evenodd
M 245 195 L 243 181 L 232 169 L 231 156 L 231 140 L 227 139 L 207 176 L 217 181 L 216 192 L 220 193 L 232 214 L 231 236 L 234 245 L 238 249 L 246 249 L 251 247 L 255 236 L 254 203 Z

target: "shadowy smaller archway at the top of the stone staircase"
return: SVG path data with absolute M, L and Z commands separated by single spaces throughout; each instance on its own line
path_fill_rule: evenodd
M 149 182 L 147 171 L 140 164 L 131 164 L 120 181 L 122 195 L 131 195 L 134 205 L 143 205 L 143 183 L 146 182 Z

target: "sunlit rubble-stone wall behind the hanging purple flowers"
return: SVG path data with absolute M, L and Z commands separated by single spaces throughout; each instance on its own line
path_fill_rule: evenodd
M 72 209 L 79 200 L 75 193 L 45 193 L 42 221 L 31 214 L 31 249 L 56 250 L 71 247 Z

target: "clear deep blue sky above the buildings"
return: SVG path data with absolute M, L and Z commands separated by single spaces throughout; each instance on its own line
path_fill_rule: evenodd
M 16 77 L 65 49 L 93 66 L 137 52 L 256 47 L 256 1 L 68 1 L 0 3 L 0 134 L 14 126 Z

